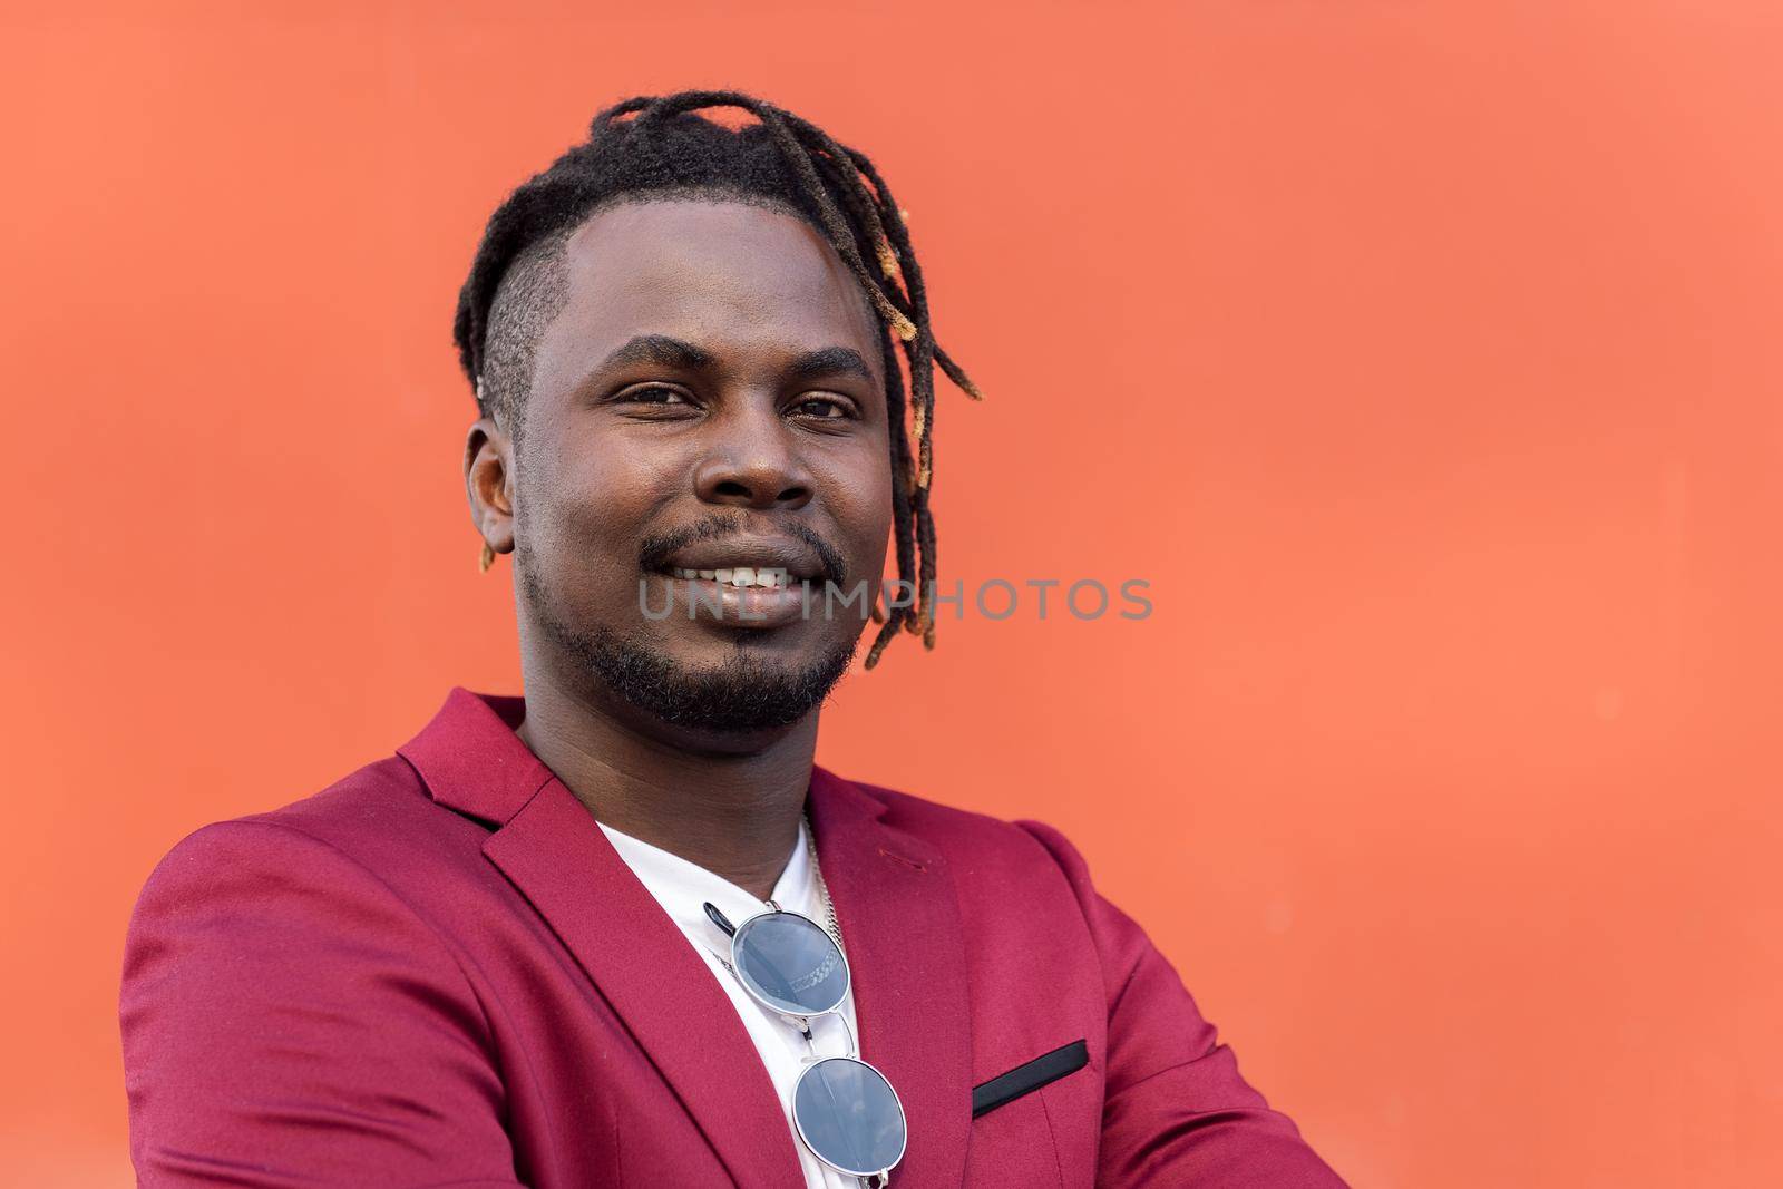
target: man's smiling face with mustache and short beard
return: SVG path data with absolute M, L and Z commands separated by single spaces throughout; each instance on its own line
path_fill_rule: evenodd
M 656 720 L 790 726 L 879 594 L 879 324 L 815 228 L 735 201 L 612 207 L 565 269 L 512 462 L 526 647 Z M 826 603 L 826 581 L 865 599 Z

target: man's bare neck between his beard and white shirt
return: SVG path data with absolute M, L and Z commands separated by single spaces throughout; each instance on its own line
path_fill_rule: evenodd
M 665 738 L 551 683 L 515 731 L 597 822 L 768 898 L 799 840 L 817 711 L 772 738 Z

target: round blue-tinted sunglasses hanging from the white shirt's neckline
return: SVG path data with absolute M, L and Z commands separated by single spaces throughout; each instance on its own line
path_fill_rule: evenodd
M 904 1159 L 909 1132 L 897 1091 L 856 1055 L 854 1029 L 840 1011 L 849 993 L 849 959 L 815 920 L 788 913 L 774 900 L 767 904 L 765 913 L 740 925 L 715 904 L 704 904 L 711 923 L 731 938 L 731 961 L 719 961 L 752 1000 L 797 1023 L 808 1045 L 813 1043 L 813 1018 L 834 1014 L 842 1021 L 849 1055 L 804 1059 L 806 1068 L 792 1091 L 793 1128 L 811 1155 L 829 1168 L 884 1185 L 892 1168 Z

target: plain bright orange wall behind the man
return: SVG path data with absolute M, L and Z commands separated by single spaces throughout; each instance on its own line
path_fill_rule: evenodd
M 9 5 L 0 1182 L 128 1182 L 155 859 L 517 692 L 449 324 L 603 103 L 867 148 L 941 622 L 818 759 L 1064 829 L 1357 1185 L 1783 1182 L 1772 4 Z M 78 11 L 77 11 L 78 9 Z

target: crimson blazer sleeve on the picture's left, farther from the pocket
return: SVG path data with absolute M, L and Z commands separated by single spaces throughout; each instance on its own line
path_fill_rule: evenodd
M 119 993 L 148 1189 L 512 1189 L 481 1005 L 439 934 L 294 827 L 207 825 L 155 866 Z

